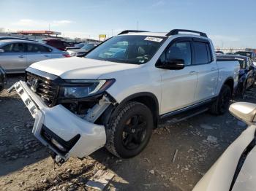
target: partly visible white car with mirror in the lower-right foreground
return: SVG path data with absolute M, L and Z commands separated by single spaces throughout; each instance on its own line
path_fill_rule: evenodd
M 256 104 L 238 102 L 230 106 L 230 112 L 249 127 L 226 149 L 193 191 L 256 190 Z

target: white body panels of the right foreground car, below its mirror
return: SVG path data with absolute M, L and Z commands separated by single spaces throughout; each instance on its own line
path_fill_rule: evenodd
M 238 160 L 241 157 L 242 152 L 244 152 L 244 149 L 247 147 L 247 145 L 252 141 L 252 139 L 255 136 L 255 125 L 251 125 L 249 128 L 244 130 L 243 133 L 241 133 L 241 136 L 236 139 L 236 141 L 233 142 L 233 144 L 228 147 L 225 152 L 222 154 L 221 157 L 217 160 L 214 165 L 211 166 L 210 170 L 203 176 L 202 179 L 200 179 L 200 182 L 196 184 L 193 191 L 226 191 L 230 189 L 230 184 L 232 182 L 233 176 L 236 171 L 236 166 L 238 164 Z M 255 149 L 252 150 L 252 152 L 255 152 Z M 250 154 L 250 156 L 247 157 L 254 157 L 254 154 Z M 253 162 L 248 165 L 244 165 L 244 173 L 238 176 L 238 179 L 236 180 L 236 183 L 234 184 L 233 190 L 255 190 L 256 182 L 255 176 L 256 171 L 252 171 L 255 169 L 255 160 L 256 157 L 252 160 Z M 249 163 L 251 159 L 246 158 L 246 163 Z M 242 169 L 243 169 L 242 168 Z M 251 171 L 247 171 L 247 168 L 251 168 Z M 246 177 L 250 177 L 247 179 L 247 182 L 249 182 L 248 187 L 243 187 L 243 184 L 246 184 L 244 180 L 244 175 L 246 174 Z M 253 187 L 250 187 L 252 186 Z M 241 189 L 243 187 L 243 189 Z M 245 189 L 246 188 L 246 189 Z

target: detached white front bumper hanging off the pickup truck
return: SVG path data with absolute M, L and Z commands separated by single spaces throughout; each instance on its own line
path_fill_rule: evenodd
M 86 157 L 105 145 L 104 125 L 83 120 L 62 105 L 46 106 L 26 82 L 16 82 L 9 92 L 13 89 L 35 119 L 32 133 L 56 153 L 57 163 L 69 157 Z

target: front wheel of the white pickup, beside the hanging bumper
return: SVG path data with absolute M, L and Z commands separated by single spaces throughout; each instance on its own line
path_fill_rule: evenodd
M 148 144 L 153 127 L 151 110 L 144 104 L 130 101 L 110 119 L 105 147 L 116 157 L 134 157 Z

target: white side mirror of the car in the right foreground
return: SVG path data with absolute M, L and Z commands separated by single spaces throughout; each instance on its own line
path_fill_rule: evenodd
M 239 120 L 251 124 L 256 122 L 256 104 L 247 102 L 237 102 L 230 105 L 230 113 Z

